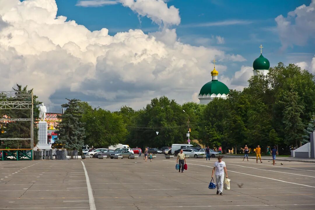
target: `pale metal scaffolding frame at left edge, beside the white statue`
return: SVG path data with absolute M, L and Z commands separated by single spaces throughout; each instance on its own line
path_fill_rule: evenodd
M 15 101 L 10 101 L 12 98 Z M 28 91 L 0 91 L 0 109 L 19 109 L 30 110 L 31 118 L 0 118 L 0 122 L 3 121 L 30 121 L 31 122 L 31 136 L 30 138 L 0 138 L 0 140 L 31 140 L 31 159 L 33 160 L 34 149 L 34 101 L 33 92 Z M 2 116 L 1 116 L 2 117 Z

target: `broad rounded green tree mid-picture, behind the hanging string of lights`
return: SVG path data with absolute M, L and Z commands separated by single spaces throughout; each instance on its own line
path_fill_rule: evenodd
M 130 129 L 132 139 L 127 142 L 133 146 L 161 147 L 187 142 L 187 115 L 181 105 L 165 96 L 152 99 L 146 108 L 139 110 L 134 127 Z

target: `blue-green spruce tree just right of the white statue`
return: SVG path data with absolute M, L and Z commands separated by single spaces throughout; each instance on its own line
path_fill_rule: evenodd
M 84 144 L 85 129 L 84 123 L 80 122 L 83 114 L 83 108 L 78 99 L 67 99 L 67 104 L 61 107 L 66 111 L 61 115 L 61 122 L 57 126 L 58 139 L 56 144 L 64 145 L 68 150 L 81 150 Z

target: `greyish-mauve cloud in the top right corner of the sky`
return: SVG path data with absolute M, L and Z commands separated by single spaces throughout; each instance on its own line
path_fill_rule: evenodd
M 283 49 L 304 46 L 308 39 L 315 38 L 315 0 L 309 6 L 303 4 L 289 12 L 287 17 L 279 15 L 275 20 Z

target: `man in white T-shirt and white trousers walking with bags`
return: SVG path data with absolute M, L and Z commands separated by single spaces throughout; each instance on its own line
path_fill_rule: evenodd
M 213 174 L 215 173 L 215 180 L 217 183 L 217 195 L 223 196 L 223 180 L 224 180 L 224 172 L 227 178 L 227 170 L 225 162 L 222 161 L 222 156 L 218 156 L 218 161 L 215 162 L 215 165 L 212 169 L 211 178 L 213 178 Z

